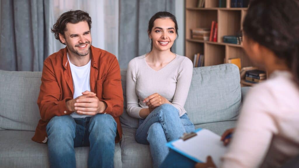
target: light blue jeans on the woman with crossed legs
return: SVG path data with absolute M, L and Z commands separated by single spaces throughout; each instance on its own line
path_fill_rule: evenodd
M 179 111 L 174 106 L 162 104 L 145 119 L 139 120 L 135 139 L 138 143 L 149 144 L 153 166 L 158 167 L 169 152 L 166 143 L 194 130 L 187 114 L 179 117 Z

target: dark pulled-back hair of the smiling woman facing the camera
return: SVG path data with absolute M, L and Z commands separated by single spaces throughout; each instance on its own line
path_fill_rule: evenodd
M 152 18 L 149 19 L 149 29 L 147 30 L 148 36 L 149 36 L 149 33 L 152 31 L 152 28 L 154 27 L 155 20 L 160 19 L 160 18 L 170 18 L 174 22 L 175 29 L 176 29 L 176 35 L 179 36 L 178 23 L 176 22 L 176 16 L 174 16 L 173 14 L 166 12 L 166 11 L 157 12 L 154 14 L 154 16 L 152 16 Z M 150 51 L 152 51 L 152 40 L 151 40 Z M 170 48 L 170 51 L 171 51 L 171 48 Z

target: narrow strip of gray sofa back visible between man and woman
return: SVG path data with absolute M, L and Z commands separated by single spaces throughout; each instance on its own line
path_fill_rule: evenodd
M 127 128 L 138 128 L 139 124 L 139 119 L 138 118 L 133 118 L 129 116 L 127 113 L 127 101 L 126 101 L 126 75 L 127 71 L 126 70 L 121 70 L 121 85 L 123 88 L 123 114 L 120 116 L 120 123 L 122 127 L 127 127 Z

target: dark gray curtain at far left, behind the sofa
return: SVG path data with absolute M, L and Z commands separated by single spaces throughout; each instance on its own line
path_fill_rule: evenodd
M 2 0 L 0 69 L 42 71 L 49 0 Z M 45 11 L 46 9 L 46 11 Z

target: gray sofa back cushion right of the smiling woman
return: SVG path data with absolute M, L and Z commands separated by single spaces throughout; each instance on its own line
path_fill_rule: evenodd
M 240 74 L 236 65 L 193 68 L 184 107 L 194 124 L 234 120 L 240 105 Z

